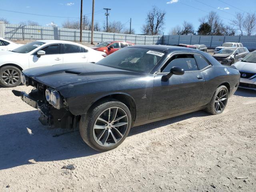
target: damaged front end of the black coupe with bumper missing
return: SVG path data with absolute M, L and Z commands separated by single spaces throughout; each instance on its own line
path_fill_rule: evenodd
M 46 85 L 36 82 L 32 78 L 22 76 L 22 83 L 26 86 L 34 86 L 29 94 L 17 90 L 12 90 L 15 96 L 20 98 L 28 105 L 38 109 L 40 117 L 38 120 L 44 126 L 50 128 L 70 128 L 78 126 L 80 116 L 74 116 L 69 110 L 65 99 L 54 90 Z

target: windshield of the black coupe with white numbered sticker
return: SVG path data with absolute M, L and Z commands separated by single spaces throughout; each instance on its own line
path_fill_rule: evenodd
M 122 70 L 149 73 L 164 52 L 144 48 L 122 48 L 96 64 L 118 68 Z

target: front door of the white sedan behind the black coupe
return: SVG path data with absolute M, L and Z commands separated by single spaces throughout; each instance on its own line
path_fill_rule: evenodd
M 45 55 L 38 57 L 37 54 L 34 53 L 29 56 L 29 68 L 63 63 L 63 54 L 60 54 L 60 44 L 52 44 L 41 50 L 45 51 Z

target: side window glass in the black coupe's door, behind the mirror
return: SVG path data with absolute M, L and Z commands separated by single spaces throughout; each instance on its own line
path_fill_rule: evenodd
M 196 60 L 193 55 L 189 54 L 178 54 L 172 56 L 168 61 L 166 67 L 161 71 L 163 73 L 170 72 L 172 67 L 180 67 L 183 68 L 184 71 L 196 71 L 198 70 Z

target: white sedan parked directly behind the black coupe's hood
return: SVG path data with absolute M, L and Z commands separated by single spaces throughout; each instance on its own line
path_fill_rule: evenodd
M 30 42 L 12 51 L 0 51 L 0 85 L 15 87 L 21 83 L 22 70 L 66 63 L 98 62 L 105 53 L 84 45 L 61 40 Z

